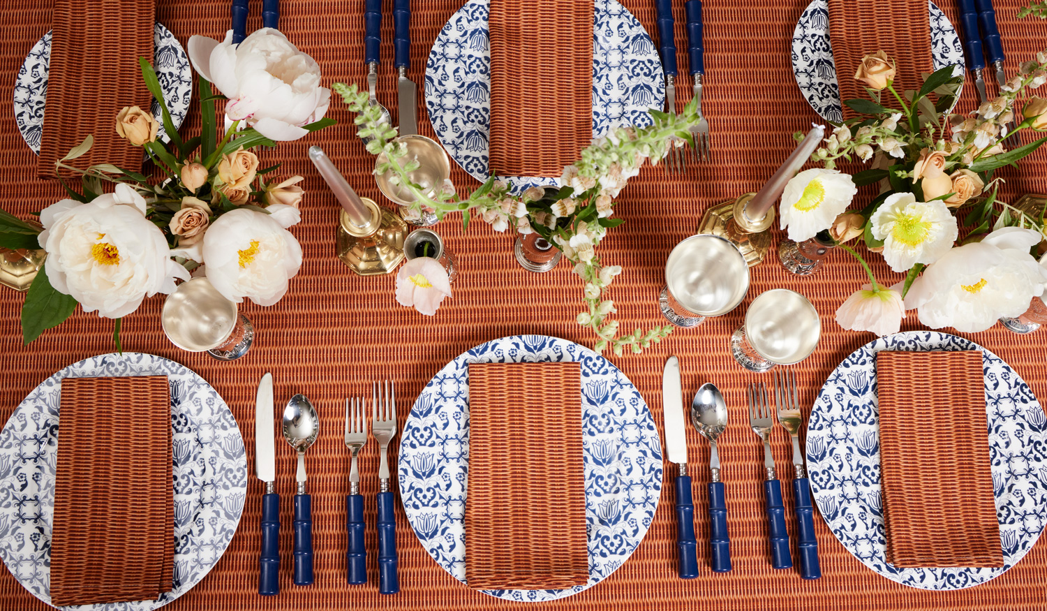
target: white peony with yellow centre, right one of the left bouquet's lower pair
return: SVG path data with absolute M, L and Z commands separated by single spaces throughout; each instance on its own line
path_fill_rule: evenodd
M 204 234 L 207 280 L 227 299 L 270 306 L 287 292 L 302 266 L 302 246 L 279 222 L 282 216 L 240 208 L 218 217 Z

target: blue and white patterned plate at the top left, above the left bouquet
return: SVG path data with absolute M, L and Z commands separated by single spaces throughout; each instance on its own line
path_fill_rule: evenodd
M 182 45 L 166 27 L 157 23 L 153 31 L 153 68 L 160 80 L 163 99 L 171 111 L 175 128 L 181 127 L 190 109 L 193 94 L 193 68 Z M 44 101 L 47 97 L 47 71 L 51 62 L 51 32 L 47 31 L 32 45 L 15 79 L 15 123 L 22 139 L 40 154 L 40 136 L 44 128 Z M 160 119 L 160 105 L 153 101 L 150 109 L 160 121 L 158 135 L 166 141 L 168 135 Z M 113 116 L 113 125 L 116 117 Z

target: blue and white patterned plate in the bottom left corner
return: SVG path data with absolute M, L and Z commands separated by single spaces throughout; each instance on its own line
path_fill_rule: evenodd
M 200 583 L 218 563 L 244 509 L 244 440 L 215 389 L 185 367 L 152 354 L 92 356 L 45 379 L 0 432 L 0 558 L 18 583 L 50 605 L 50 534 L 62 379 L 124 375 L 166 375 L 171 384 L 173 588 L 156 601 L 62 609 L 152 611 L 166 605 Z

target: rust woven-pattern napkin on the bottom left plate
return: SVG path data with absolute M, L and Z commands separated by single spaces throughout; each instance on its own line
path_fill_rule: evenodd
M 166 376 L 62 380 L 51 604 L 171 590 L 174 489 Z

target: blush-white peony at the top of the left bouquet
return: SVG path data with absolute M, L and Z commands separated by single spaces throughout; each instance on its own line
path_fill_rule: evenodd
M 194 36 L 188 54 L 196 71 L 229 99 L 225 114 L 268 138 L 300 138 L 309 133 L 300 126 L 324 118 L 331 103 L 319 65 L 270 27 L 237 45 L 231 29 L 221 43 Z

